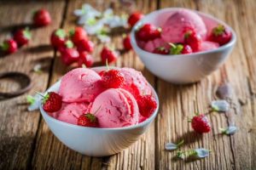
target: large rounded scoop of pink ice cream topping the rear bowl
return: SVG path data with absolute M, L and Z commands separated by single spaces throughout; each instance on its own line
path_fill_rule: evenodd
M 161 27 L 161 37 L 166 42 L 183 42 L 184 33 L 191 28 L 203 39 L 207 35 L 207 27 L 201 17 L 189 9 L 177 10 Z

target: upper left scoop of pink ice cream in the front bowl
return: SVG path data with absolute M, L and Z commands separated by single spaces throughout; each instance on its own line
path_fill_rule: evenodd
M 101 80 L 95 71 L 74 69 L 62 77 L 59 94 L 67 103 L 91 102 L 103 91 Z

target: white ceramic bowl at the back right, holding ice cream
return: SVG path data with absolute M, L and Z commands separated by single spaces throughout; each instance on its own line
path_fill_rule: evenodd
M 131 31 L 131 45 L 144 65 L 157 77 L 160 77 L 167 82 L 173 83 L 190 83 L 197 82 L 212 71 L 218 69 L 220 65 L 228 58 L 230 52 L 236 43 L 236 33 L 230 26 L 227 26 L 223 21 L 213 18 L 209 14 L 199 14 L 207 25 L 207 30 L 212 30 L 217 23 L 228 27 L 232 32 L 230 42 L 217 49 L 199 52 L 194 54 L 179 54 L 179 55 L 162 55 L 152 54 L 144 51 L 137 46 L 135 32 L 140 26 L 145 23 L 151 23 L 155 26 L 161 26 L 166 19 L 180 8 L 163 8 L 147 14 L 142 20 L 139 20 Z

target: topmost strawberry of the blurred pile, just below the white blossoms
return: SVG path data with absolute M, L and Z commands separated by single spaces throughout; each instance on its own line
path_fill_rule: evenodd
M 78 42 L 80 42 L 81 40 L 87 40 L 88 37 L 87 37 L 87 33 L 86 31 L 84 30 L 83 27 L 76 27 L 75 29 L 69 31 L 69 36 L 72 40 L 72 42 L 77 45 Z

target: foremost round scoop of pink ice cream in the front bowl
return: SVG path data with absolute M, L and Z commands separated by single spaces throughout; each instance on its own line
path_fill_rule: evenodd
M 99 94 L 90 113 L 98 118 L 100 127 L 126 127 L 138 123 L 136 99 L 122 88 L 109 88 Z

